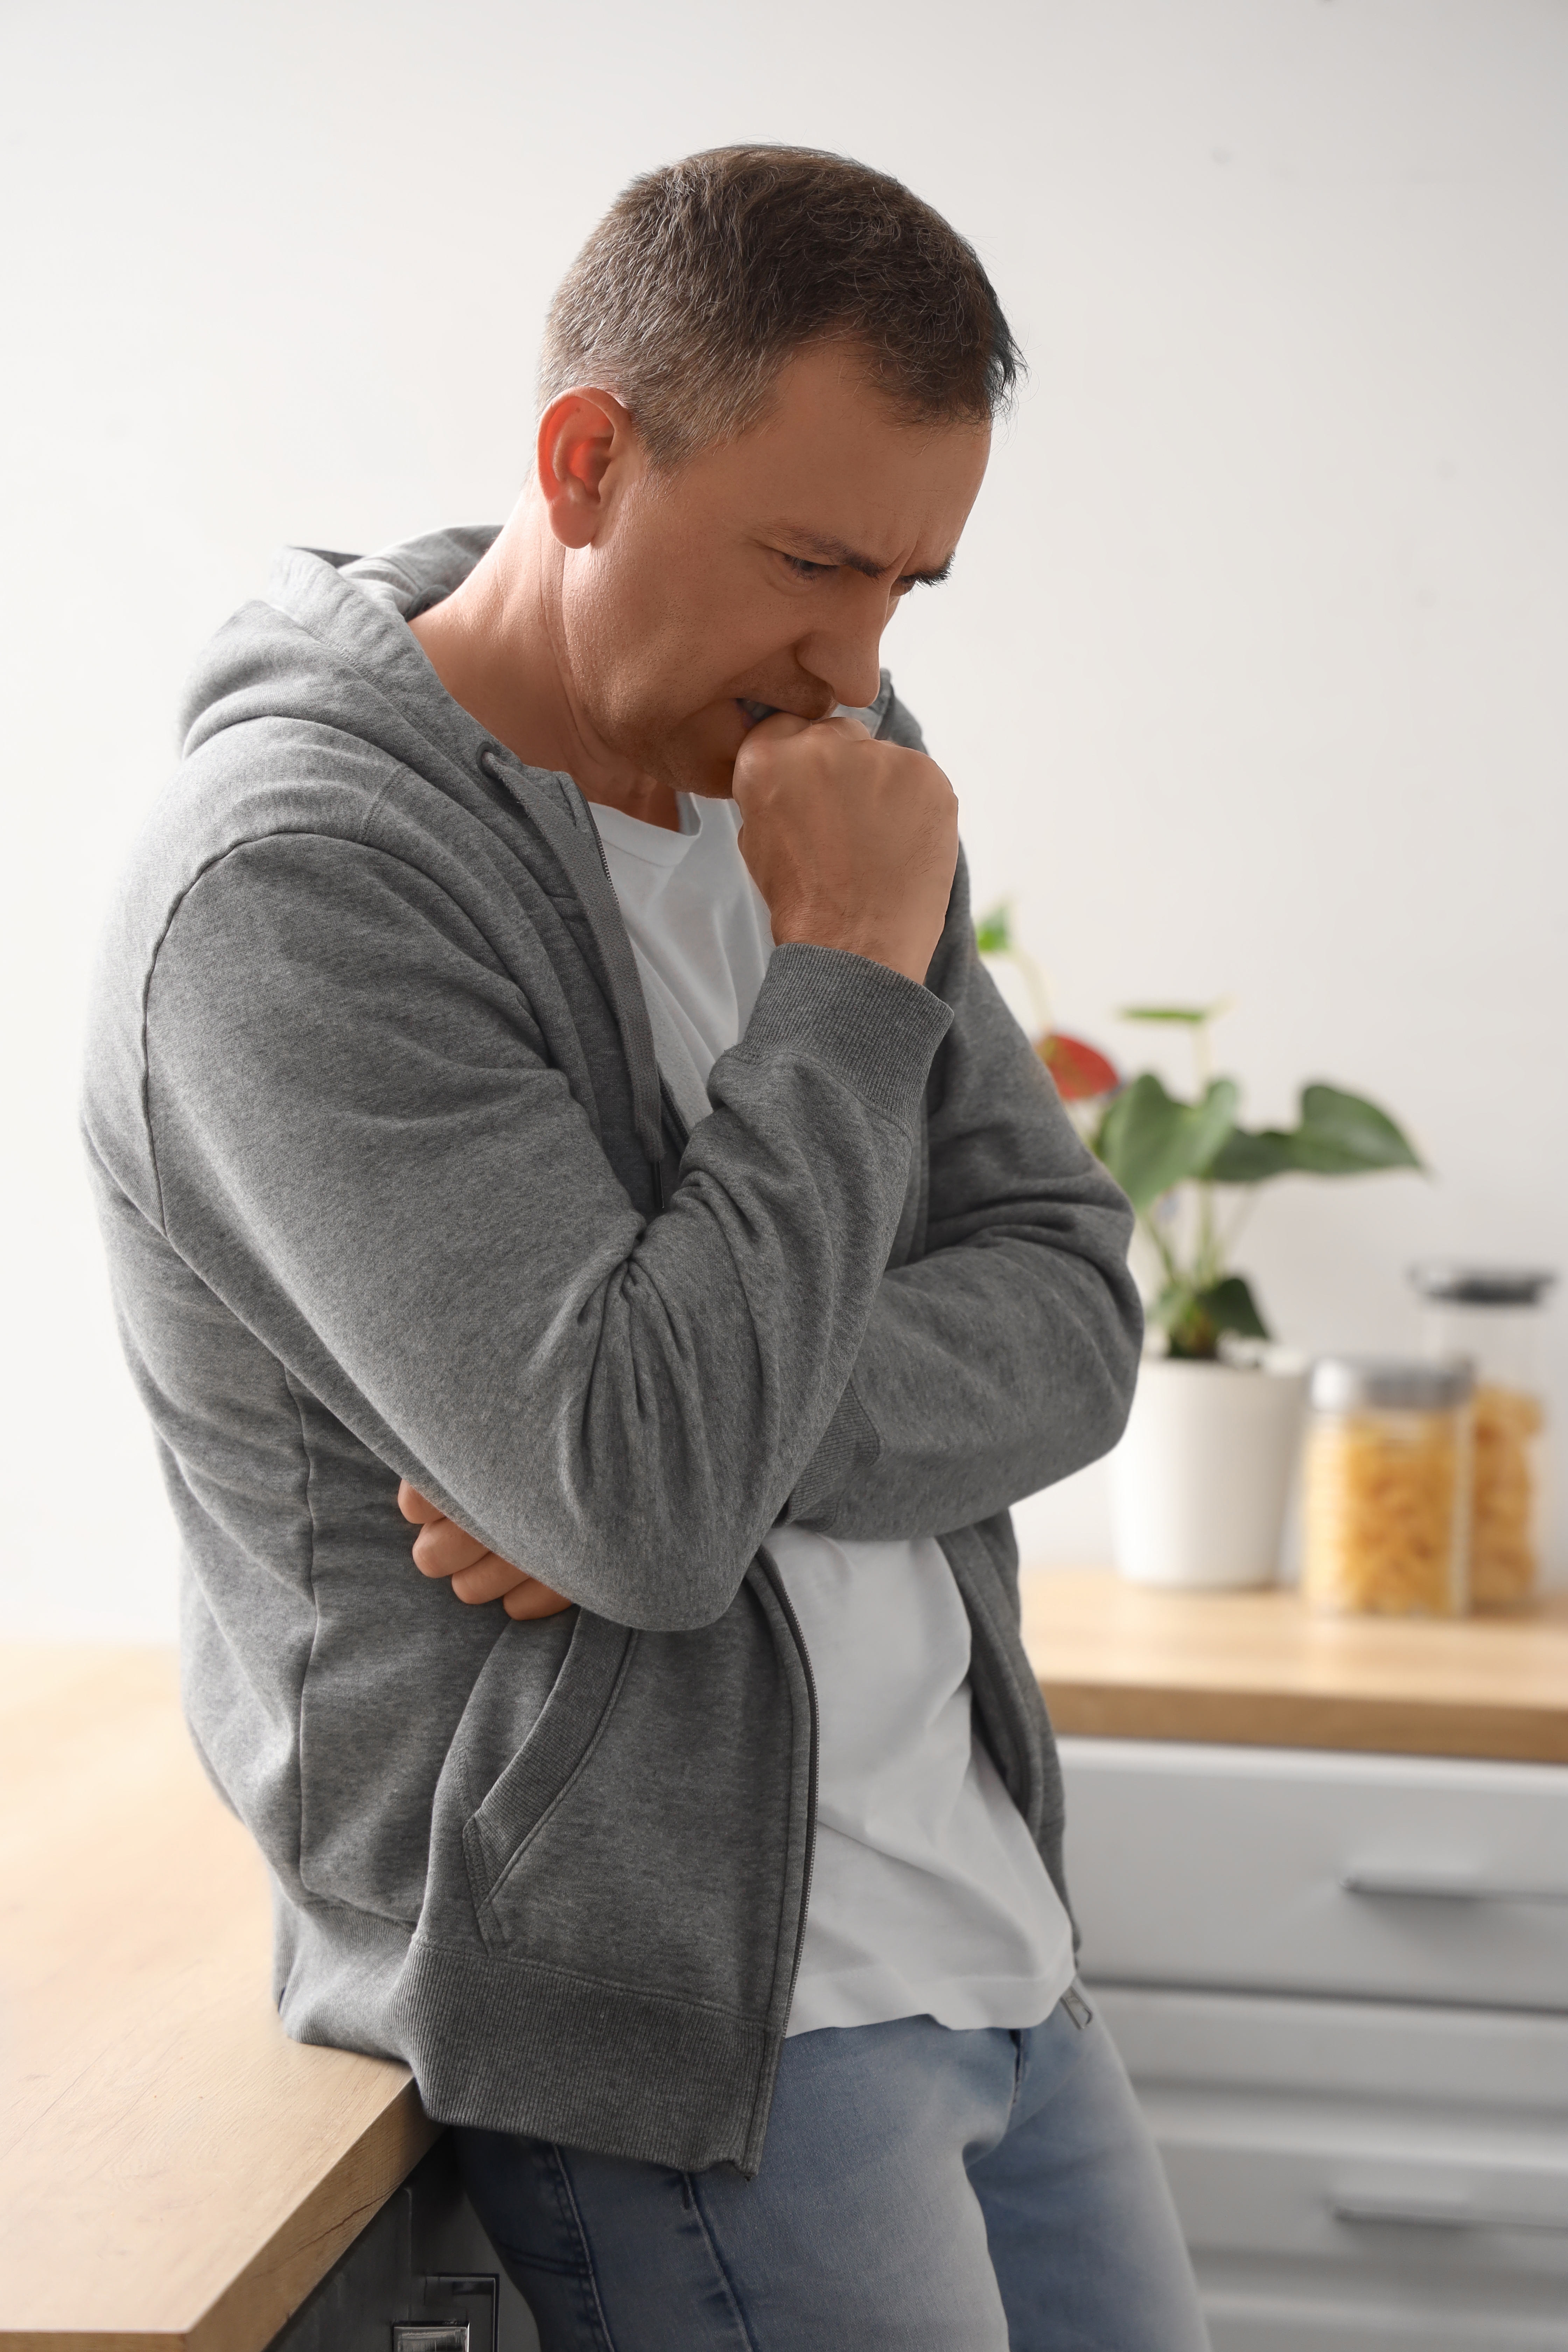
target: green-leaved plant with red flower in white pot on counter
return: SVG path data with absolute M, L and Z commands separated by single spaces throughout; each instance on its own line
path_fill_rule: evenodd
M 1185 1028 L 1190 1098 L 1152 1070 L 1112 1063 L 1048 1021 L 1044 976 L 1016 946 L 1006 908 L 976 927 L 980 953 L 1013 962 L 1046 1018 L 1034 1049 L 1074 1124 L 1138 1216 L 1152 1348 L 1114 1454 L 1117 1566 L 1138 1583 L 1255 1585 L 1279 1566 L 1307 1371 L 1269 1345 L 1232 1251 L 1258 1185 L 1276 1176 L 1420 1169 L 1394 1120 L 1324 1082 L 1300 1091 L 1295 1127 L 1241 1127 L 1241 1089 L 1211 1068 L 1222 1004 L 1133 1004 L 1121 1018 Z

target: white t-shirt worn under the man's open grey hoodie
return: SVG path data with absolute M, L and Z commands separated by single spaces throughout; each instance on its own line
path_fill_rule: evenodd
M 661 1070 L 689 1122 L 750 1021 L 773 934 L 726 800 L 682 833 L 595 807 Z M 973 1733 L 969 1616 L 931 1538 L 839 1543 L 776 1526 L 818 1698 L 816 1872 L 790 2032 L 931 2016 L 1039 2025 L 1072 1983 L 1072 1929 Z

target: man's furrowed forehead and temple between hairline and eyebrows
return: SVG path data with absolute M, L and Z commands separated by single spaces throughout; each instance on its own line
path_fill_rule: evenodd
M 842 343 L 797 353 L 764 416 L 682 473 L 752 529 L 797 529 L 884 564 L 952 553 L 990 456 L 990 426 L 900 419 Z

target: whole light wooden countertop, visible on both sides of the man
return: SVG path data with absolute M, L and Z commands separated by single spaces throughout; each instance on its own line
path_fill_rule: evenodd
M 1058 1731 L 1568 1762 L 1568 1595 L 1458 1625 L 1034 1571 Z M 261 2352 L 435 2138 L 301 2049 L 169 1651 L 0 1646 L 0 2352 Z

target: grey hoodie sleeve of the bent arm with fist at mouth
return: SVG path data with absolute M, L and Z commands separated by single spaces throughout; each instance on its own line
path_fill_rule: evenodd
M 153 967 L 153 1214 L 505 1559 L 703 1625 L 865 1341 L 950 1018 L 882 964 L 778 950 L 649 1223 L 468 915 L 383 849 L 275 835 L 200 875 Z

